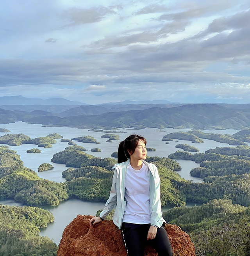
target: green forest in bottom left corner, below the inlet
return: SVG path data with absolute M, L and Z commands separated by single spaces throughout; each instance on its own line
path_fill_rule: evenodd
M 0 256 L 56 256 L 58 247 L 39 228 L 53 222 L 52 213 L 37 207 L 0 204 Z

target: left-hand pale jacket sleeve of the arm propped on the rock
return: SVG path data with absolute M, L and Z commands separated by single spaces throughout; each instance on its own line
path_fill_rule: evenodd
M 117 180 L 117 170 L 114 169 L 113 179 L 112 179 L 112 186 L 111 191 L 109 193 L 109 199 L 105 203 L 104 209 L 100 213 L 100 217 L 105 219 L 107 215 L 116 207 L 117 203 L 117 196 L 116 196 L 116 180 Z

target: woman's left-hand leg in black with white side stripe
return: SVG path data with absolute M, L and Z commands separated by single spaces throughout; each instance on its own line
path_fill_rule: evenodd
M 144 256 L 150 224 L 122 223 L 121 235 L 128 256 Z

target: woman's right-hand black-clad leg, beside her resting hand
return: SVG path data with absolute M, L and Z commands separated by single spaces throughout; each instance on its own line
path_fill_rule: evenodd
M 173 251 L 168 235 L 163 226 L 157 229 L 155 239 L 149 240 L 149 244 L 158 252 L 159 256 L 172 256 Z

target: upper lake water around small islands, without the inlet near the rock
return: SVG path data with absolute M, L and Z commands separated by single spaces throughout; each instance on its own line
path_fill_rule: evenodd
M 31 124 L 31 123 L 23 123 L 21 121 L 16 123 L 10 123 L 8 125 L 0 125 L 0 128 L 6 128 L 11 131 L 12 134 L 16 133 L 23 133 L 30 136 L 32 139 L 37 137 L 46 136 L 51 133 L 59 133 L 63 136 L 63 138 L 74 138 L 79 136 L 86 136 L 91 135 L 98 142 L 101 144 L 93 144 L 93 143 L 82 143 L 77 142 L 77 145 L 85 147 L 87 150 L 86 153 L 89 153 L 93 156 L 100 156 L 102 158 L 111 157 L 111 153 L 118 150 L 118 144 L 121 140 L 124 140 L 129 134 L 137 133 L 144 136 L 147 140 L 147 147 L 153 147 L 156 149 L 154 152 L 148 152 L 148 156 L 160 156 L 160 157 L 168 157 L 169 154 L 182 149 L 177 149 L 175 145 L 186 143 L 189 145 L 194 145 L 197 147 L 201 153 L 204 153 L 207 149 L 213 149 L 215 147 L 225 147 L 228 146 L 226 143 L 215 142 L 213 140 L 204 140 L 205 143 L 195 144 L 191 143 L 187 140 L 179 140 L 179 142 L 170 142 L 170 144 L 166 144 L 161 139 L 164 135 L 168 133 L 173 133 L 177 131 L 189 131 L 190 129 L 173 129 L 173 128 L 166 128 L 166 129 L 155 129 L 155 128 L 148 128 L 144 130 L 127 130 L 127 129 L 120 129 L 120 131 L 125 131 L 126 133 L 118 133 L 120 135 L 120 140 L 115 140 L 112 143 L 106 142 L 107 138 L 101 138 L 101 136 L 105 133 L 96 133 L 96 132 L 89 132 L 87 129 L 77 129 L 71 127 L 43 127 L 42 125 Z M 204 131 L 210 132 L 210 131 Z M 236 130 L 227 130 L 227 131 L 212 131 L 214 133 L 236 133 Z M 1 133 L 0 135 L 4 135 L 7 133 Z M 37 169 L 41 163 L 51 163 L 51 158 L 55 153 L 63 151 L 66 147 L 68 147 L 67 142 L 60 142 L 61 139 L 57 139 L 57 143 L 53 144 L 52 148 L 44 149 L 43 147 L 39 147 L 42 151 L 41 153 L 36 154 L 28 154 L 26 151 L 32 148 L 38 148 L 37 145 L 32 144 L 23 144 L 18 147 L 10 146 L 11 149 L 16 150 L 17 153 L 20 155 L 21 160 L 24 163 L 24 166 L 29 167 L 33 171 L 37 172 Z M 101 152 L 90 152 L 90 149 L 98 147 L 101 149 Z M 177 160 L 180 163 L 182 170 L 178 171 L 180 176 L 185 178 L 186 180 L 193 180 L 193 182 L 202 182 L 201 179 L 191 177 L 189 172 L 192 168 L 197 167 L 199 164 L 189 161 L 189 160 Z M 67 167 L 64 164 L 60 163 L 52 163 L 54 166 L 53 170 L 48 170 L 46 172 L 37 172 L 39 177 L 45 178 L 48 180 L 52 180 L 55 182 L 64 182 L 65 179 L 62 178 L 62 171 L 66 170 Z

